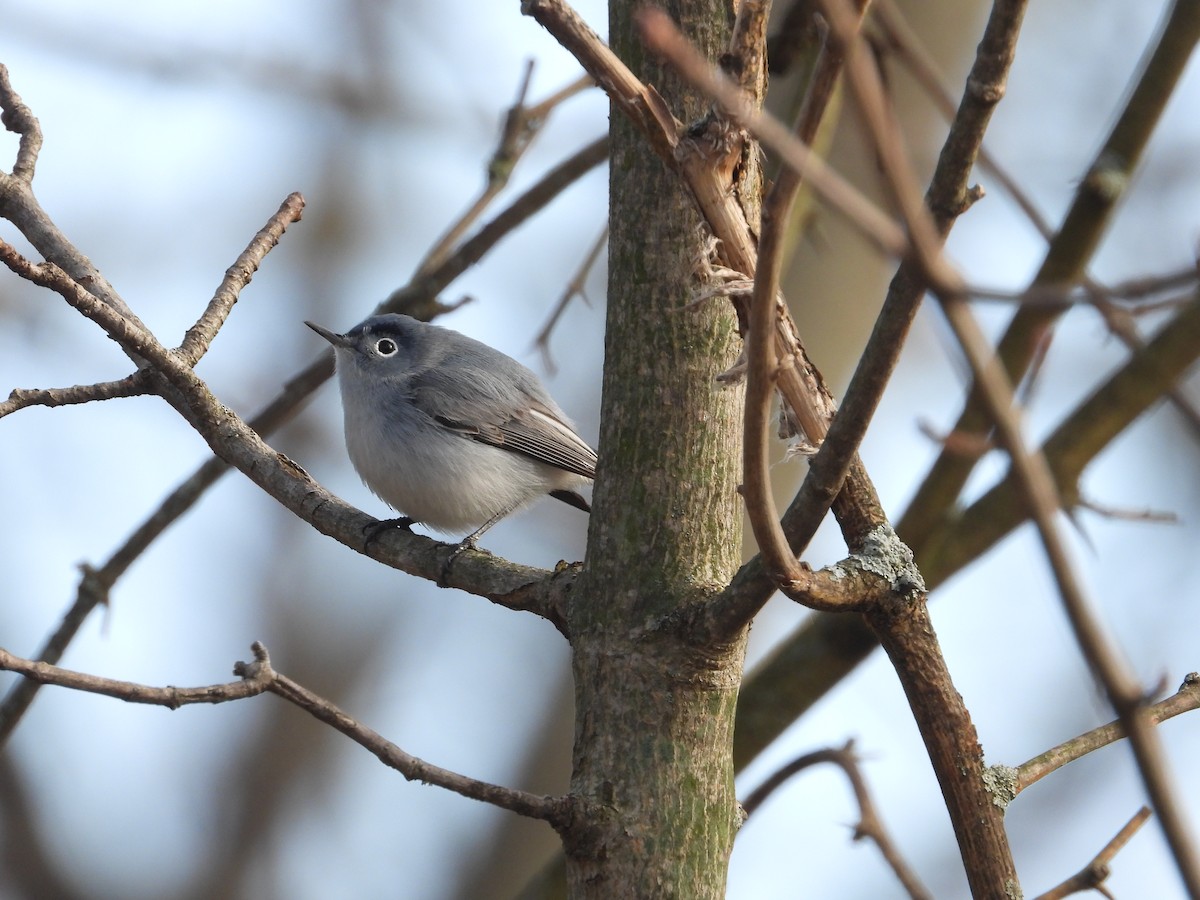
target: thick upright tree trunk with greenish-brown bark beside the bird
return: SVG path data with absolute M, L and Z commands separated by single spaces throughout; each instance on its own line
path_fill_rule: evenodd
M 613 49 L 677 118 L 707 107 L 644 56 L 634 4 L 611 5 Z M 728 12 L 668 10 L 715 58 Z M 587 826 L 566 839 L 571 896 L 721 898 L 739 824 L 732 739 L 745 635 L 695 646 L 672 613 L 739 563 L 740 389 L 727 302 L 684 310 L 706 232 L 679 179 L 613 114 L 600 478 L 588 562 L 568 622 L 576 731 L 571 790 Z

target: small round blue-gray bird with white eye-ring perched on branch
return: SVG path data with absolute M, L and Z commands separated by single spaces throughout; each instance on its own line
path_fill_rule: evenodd
M 362 481 L 403 514 L 475 540 L 550 494 L 588 511 L 572 488 L 596 455 L 541 380 L 511 356 L 410 316 L 374 316 L 334 346 L 346 449 Z

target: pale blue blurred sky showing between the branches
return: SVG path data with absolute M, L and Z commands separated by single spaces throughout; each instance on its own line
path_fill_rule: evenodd
M 1112 1 L 1100 11 L 1058 0 L 1033 7 L 990 143 L 1055 221 L 1162 5 Z M 576 74 L 515 1 L 416 5 L 384 14 L 367 36 L 349 28 L 346 8 L 29 0 L 0 10 L 0 61 L 46 133 L 38 197 L 164 341 L 191 324 L 289 191 L 308 198 L 305 220 L 268 258 L 199 367 L 247 415 L 320 349 L 302 319 L 344 328 L 361 318 L 407 280 L 473 197 L 524 60 L 538 61 L 535 98 Z M 601 4 L 580 8 L 604 31 Z M 364 83 L 364 48 L 372 41 L 386 48 L 378 74 L 391 112 L 355 119 L 313 101 L 334 73 Z M 1079 61 L 1063 74 L 1056 67 L 1067 49 Z M 281 82 L 294 90 L 281 91 Z M 1105 277 L 1165 271 L 1194 254 L 1198 94 L 1193 71 L 1148 154 L 1145 193 L 1127 205 L 1098 259 Z M 599 134 L 606 116 L 595 92 L 571 101 L 518 169 L 516 187 Z M 8 136 L 0 138 L 6 168 L 13 146 Z M 532 335 L 604 222 L 606 178 L 592 173 L 456 282 L 446 299 L 469 294 L 475 301 L 445 324 L 538 367 Z M 12 227 L 0 223 L 0 235 L 13 240 Z M 950 252 L 973 281 L 1020 287 L 1037 268 L 1040 244 L 992 191 L 956 229 Z M 593 275 L 589 294 L 595 307 L 575 305 L 556 337 L 559 371 L 547 382 L 595 439 L 602 271 Z M 1003 314 L 988 310 L 984 320 L 995 329 Z M 2 395 L 127 372 L 124 356 L 90 323 L 12 278 L 0 278 L 0 323 Z M 896 514 L 932 455 L 918 421 L 946 427 L 958 408 L 958 370 L 947 347 L 937 317 L 923 314 L 864 448 Z M 1057 421 L 1060 397 L 1076 398 L 1121 356 L 1097 317 L 1069 317 L 1031 409 L 1034 433 Z M 346 460 L 335 394 L 324 388 L 272 443 L 347 500 L 384 515 Z M 150 398 L 30 409 L 0 422 L 0 508 L 10 522 L 0 541 L 0 646 L 32 655 L 73 598 L 77 566 L 102 563 L 205 456 L 179 418 Z M 1098 461 L 1087 488 L 1112 505 L 1175 510 L 1183 524 L 1085 514 L 1088 541 L 1073 538 L 1092 596 L 1147 684 L 1164 677 L 1174 686 L 1200 668 L 1196 472 L 1194 438 L 1159 409 Z M 486 545 L 544 566 L 578 558 L 586 521 L 558 505 L 502 523 Z M 839 546 L 826 534 L 814 553 L 834 558 Z M 935 600 L 935 623 L 991 761 L 1019 763 L 1108 720 L 1027 530 Z M 288 521 L 239 475 L 157 541 L 113 601 L 86 624 L 66 665 L 150 684 L 203 684 L 228 679 L 233 661 L 263 640 L 277 667 L 298 678 L 311 659 L 313 678 L 324 680 L 310 686 L 404 749 L 497 781 L 517 778 L 528 732 L 569 680 L 566 647 L 547 624 L 382 569 Z M 773 601 L 755 629 L 752 656 L 802 618 Z M 346 680 L 331 684 L 318 659 L 334 660 Z M 367 668 L 360 679 L 352 677 L 356 666 Z M 326 757 L 290 788 L 294 822 L 281 842 L 259 848 L 253 886 L 262 895 L 448 896 L 451 870 L 480 846 L 484 829 L 504 827 L 508 814 L 409 785 L 281 706 L 264 697 L 167 713 L 44 690 L 11 754 L 44 815 L 41 827 L 53 834 L 50 850 L 89 896 L 167 895 L 203 865 L 188 842 L 221 833 L 223 794 L 234 790 L 228 773 L 240 752 L 256 746 L 268 714 L 292 715 L 294 739 L 325 742 Z M 1194 816 L 1198 721 L 1163 728 Z M 937 896 L 961 895 L 936 785 L 881 655 L 757 761 L 739 781 L 743 793 L 791 756 L 850 737 L 868 760 L 901 848 Z M 287 745 L 268 751 L 286 762 Z M 1026 890 L 1043 890 L 1081 866 L 1140 803 L 1123 748 L 1031 790 L 1009 815 Z M 739 838 L 730 896 L 892 895 L 877 854 L 848 841 L 853 816 L 832 773 L 787 787 Z M 4 884 L 0 871 L 0 894 Z M 1111 884 L 1120 896 L 1182 896 L 1153 823 L 1118 857 Z

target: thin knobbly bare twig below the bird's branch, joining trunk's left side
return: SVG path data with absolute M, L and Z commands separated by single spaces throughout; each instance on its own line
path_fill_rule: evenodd
M 370 750 L 380 762 L 396 769 L 409 781 L 424 781 L 437 785 L 469 799 L 490 803 L 493 806 L 499 806 L 522 816 L 541 818 L 554 827 L 565 826 L 571 808 L 569 797 L 542 797 L 526 791 L 479 781 L 478 779 L 461 775 L 457 772 L 432 766 L 412 754 L 404 752 L 394 743 L 383 738 L 378 732 L 372 731 L 347 715 L 328 700 L 319 697 L 287 676 L 276 672 L 271 667 L 266 647 L 260 642 L 254 642 L 251 650 L 254 654 L 254 661 L 238 662 L 233 670 L 234 674 L 241 677 L 241 680 L 212 684 L 204 688 L 154 688 L 133 682 L 101 678 L 100 676 L 59 668 L 46 662 L 20 659 L 2 648 L 0 648 L 0 670 L 17 672 L 40 684 L 53 684 L 60 688 L 115 697 L 127 703 L 146 703 L 167 707 L 168 709 L 179 709 L 180 707 L 194 703 L 227 703 L 266 692 L 276 694 L 300 707 L 314 719 L 332 726 L 360 746 Z

